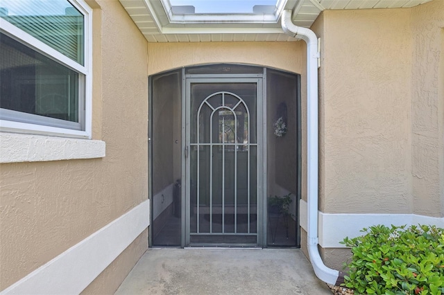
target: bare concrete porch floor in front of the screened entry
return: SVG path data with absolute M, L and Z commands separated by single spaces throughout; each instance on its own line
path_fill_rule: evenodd
M 156 249 L 115 294 L 332 294 L 300 249 Z

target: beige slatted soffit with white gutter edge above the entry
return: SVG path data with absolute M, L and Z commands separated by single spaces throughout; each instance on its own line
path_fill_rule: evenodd
M 189 17 L 174 15 L 168 0 L 119 1 L 148 42 L 221 42 L 294 41 L 280 27 L 282 9 L 293 10 L 293 23 L 309 28 L 323 10 L 410 8 L 432 0 L 284 0 L 275 20 L 270 15 Z

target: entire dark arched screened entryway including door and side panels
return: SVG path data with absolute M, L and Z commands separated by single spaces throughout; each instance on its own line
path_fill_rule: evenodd
M 150 77 L 152 246 L 299 246 L 299 81 L 237 64 Z

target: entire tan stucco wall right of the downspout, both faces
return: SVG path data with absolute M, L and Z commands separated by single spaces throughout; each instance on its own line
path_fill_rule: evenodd
M 321 211 L 443 216 L 443 5 L 318 17 Z

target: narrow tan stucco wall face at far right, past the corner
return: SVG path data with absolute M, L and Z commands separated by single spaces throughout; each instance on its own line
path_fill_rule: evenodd
M 411 17 L 413 212 L 444 217 L 444 1 L 413 8 Z

